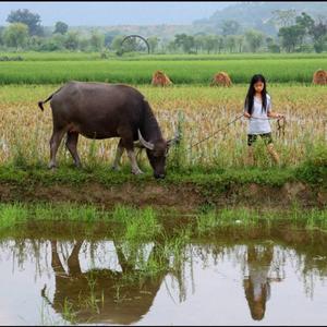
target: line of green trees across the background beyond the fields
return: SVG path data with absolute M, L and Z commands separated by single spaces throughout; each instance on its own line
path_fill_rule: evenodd
M 327 23 L 315 21 L 307 13 L 295 15 L 292 11 L 276 11 L 274 17 L 279 23 L 276 37 L 250 28 L 243 32 L 233 20 L 222 22 L 221 33 L 198 32 L 190 35 L 175 34 L 167 39 L 162 36 L 147 38 L 152 53 L 221 53 L 221 52 L 323 52 L 327 50 Z M 0 27 L 2 50 L 35 51 L 122 51 L 143 50 L 145 45 L 131 39 L 124 44 L 125 35 L 119 29 L 101 32 L 92 29 L 88 35 L 71 28 L 64 22 L 57 22 L 53 28 L 41 26 L 37 13 L 27 9 L 12 11 L 7 19 L 8 26 Z

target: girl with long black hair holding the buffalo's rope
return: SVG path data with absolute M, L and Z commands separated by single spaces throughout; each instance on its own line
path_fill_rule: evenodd
M 249 118 L 247 149 L 249 164 L 254 164 L 252 144 L 259 135 L 276 164 L 279 164 L 279 156 L 274 148 L 269 118 L 282 118 L 283 116 L 271 111 L 270 96 L 266 90 L 266 80 L 263 75 L 254 75 L 244 104 L 244 117 Z

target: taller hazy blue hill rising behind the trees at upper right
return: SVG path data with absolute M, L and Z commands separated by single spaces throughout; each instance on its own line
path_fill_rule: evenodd
M 295 10 L 298 14 L 306 12 L 314 19 L 327 17 L 327 2 L 242 2 L 216 11 L 209 19 L 194 21 L 193 26 L 196 31 L 220 34 L 222 22 L 233 20 L 241 25 L 240 33 L 256 28 L 276 35 L 278 27 L 271 20 L 275 10 Z

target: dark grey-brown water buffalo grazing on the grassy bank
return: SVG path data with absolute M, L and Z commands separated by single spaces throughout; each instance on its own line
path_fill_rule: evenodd
M 69 82 L 38 106 L 50 101 L 53 132 L 50 140 L 49 168 L 56 168 L 56 154 L 66 134 L 66 148 L 75 165 L 81 166 L 77 140 L 120 137 L 113 169 L 119 169 L 123 150 L 131 160 L 132 172 L 142 173 L 137 166 L 134 142 L 145 147 L 155 178 L 165 178 L 166 156 L 178 136 L 166 141 L 145 97 L 135 88 L 122 84 Z

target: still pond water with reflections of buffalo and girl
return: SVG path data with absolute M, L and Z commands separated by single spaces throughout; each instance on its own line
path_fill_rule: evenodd
M 326 234 L 177 240 L 2 237 L 0 325 L 326 325 Z

